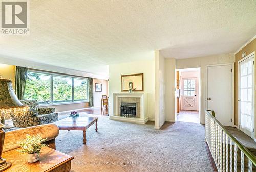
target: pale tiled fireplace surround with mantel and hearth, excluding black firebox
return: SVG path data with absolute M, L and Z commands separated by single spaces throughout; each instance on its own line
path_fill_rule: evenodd
M 133 122 L 137 124 L 145 124 L 148 121 L 147 117 L 147 99 L 144 93 L 114 93 L 113 94 L 113 114 L 110 116 L 112 120 Z M 121 102 L 137 103 L 137 117 L 122 117 L 120 116 Z

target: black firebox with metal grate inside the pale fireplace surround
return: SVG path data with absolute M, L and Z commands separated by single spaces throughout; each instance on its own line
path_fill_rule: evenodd
M 137 117 L 137 102 L 121 102 L 120 116 L 122 117 Z

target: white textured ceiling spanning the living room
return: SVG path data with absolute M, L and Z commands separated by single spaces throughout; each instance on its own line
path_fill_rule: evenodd
M 30 1 L 30 35 L 0 56 L 92 73 L 109 64 L 233 53 L 256 34 L 256 1 Z

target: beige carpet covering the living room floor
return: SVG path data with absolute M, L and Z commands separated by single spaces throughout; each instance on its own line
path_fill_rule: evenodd
M 56 147 L 75 157 L 71 171 L 212 171 L 203 125 L 166 122 L 156 130 L 154 122 L 138 125 L 98 117 L 98 132 L 95 125 L 88 129 L 86 145 L 82 131 L 60 131 Z

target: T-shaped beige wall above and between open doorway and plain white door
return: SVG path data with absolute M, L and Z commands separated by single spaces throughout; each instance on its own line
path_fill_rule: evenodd
M 200 122 L 204 124 L 205 121 L 205 67 L 206 65 L 211 64 L 224 64 L 224 63 L 234 63 L 234 54 L 220 54 L 220 55 L 212 55 L 206 57 L 196 57 L 196 58 L 188 58 L 188 59 L 177 59 L 176 60 L 176 69 L 184 69 L 184 68 L 195 68 L 201 67 L 201 114 L 200 114 Z

